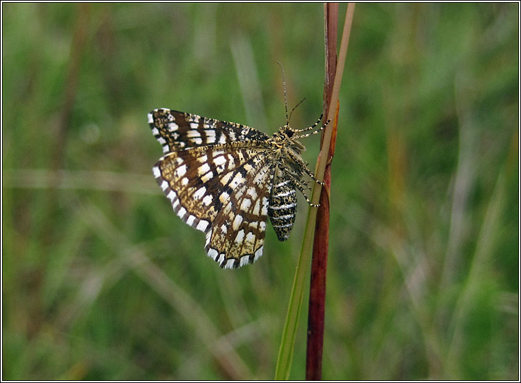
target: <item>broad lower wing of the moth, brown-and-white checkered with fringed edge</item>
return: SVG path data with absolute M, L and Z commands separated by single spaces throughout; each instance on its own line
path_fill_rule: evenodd
M 153 167 L 177 216 L 206 233 L 206 251 L 223 268 L 263 251 L 273 168 L 256 141 L 170 152 Z

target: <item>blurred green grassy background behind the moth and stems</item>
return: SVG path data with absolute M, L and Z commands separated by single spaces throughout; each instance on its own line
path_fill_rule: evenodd
M 356 6 L 324 379 L 519 378 L 518 6 Z M 291 125 L 313 124 L 323 5 L 3 3 L 2 32 L 2 378 L 273 378 L 307 205 L 221 270 L 154 181 L 146 114 L 271 134 L 280 61 L 289 108 L 307 97 Z

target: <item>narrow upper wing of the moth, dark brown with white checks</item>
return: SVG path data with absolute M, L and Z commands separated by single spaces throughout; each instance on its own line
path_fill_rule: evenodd
M 161 143 L 164 153 L 233 141 L 268 138 L 263 132 L 250 126 L 165 108 L 148 113 L 148 124 L 155 139 Z

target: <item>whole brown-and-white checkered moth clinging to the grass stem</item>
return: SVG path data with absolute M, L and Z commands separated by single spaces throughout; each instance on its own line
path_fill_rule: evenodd
M 267 217 L 278 239 L 287 240 L 296 189 L 304 194 L 304 176 L 313 178 L 297 139 L 314 134 L 303 133 L 318 121 L 303 130 L 282 126 L 272 137 L 169 109 L 149 113 L 148 122 L 165 153 L 153 167 L 155 179 L 177 216 L 206 233 L 208 257 L 223 268 L 255 262 L 263 253 Z

